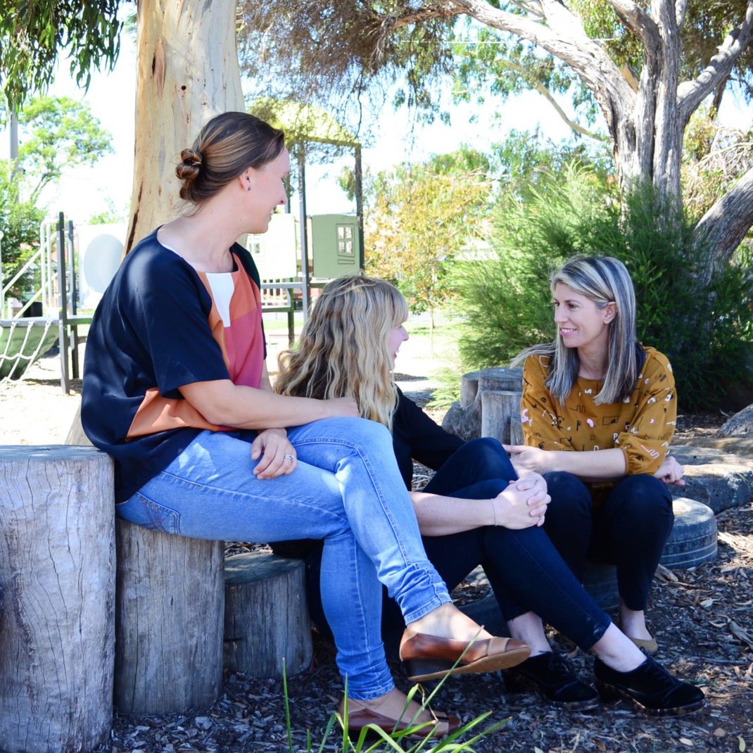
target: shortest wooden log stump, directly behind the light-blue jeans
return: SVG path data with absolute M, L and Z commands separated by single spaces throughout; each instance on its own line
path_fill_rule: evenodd
M 310 666 L 311 621 L 303 560 L 269 552 L 225 560 L 224 662 L 230 672 L 288 677 Z

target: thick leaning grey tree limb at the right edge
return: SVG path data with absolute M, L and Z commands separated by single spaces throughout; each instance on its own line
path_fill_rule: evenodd
M 724 194 L 696 226 L 695 235 L 714 246 L 712 264 L 720 269 L 753 225 L 753 167 Z M 712 270 L 709 270 L 712 274 Z

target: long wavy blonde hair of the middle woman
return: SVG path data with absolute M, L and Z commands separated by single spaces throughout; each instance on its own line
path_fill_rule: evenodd
M 390 331 L 408 317 L 404 297 L 374 277 L 340 277 L 322 289 L 296 350 L 280 353 L 275 392 L 353 398 L 365 419 L 392 430 L 398 392 Z

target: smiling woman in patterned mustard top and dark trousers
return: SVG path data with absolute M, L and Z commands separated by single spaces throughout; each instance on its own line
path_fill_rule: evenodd
M 544 530 L 579 578 L 587 555 L 617 566 L 620 627 L 647 654 L 648 590 L 672 531 L 668 484 L 684 485 L 667 455 L 677 401 L 672 367 L 636 338 L 625 266 L 576 257 L 550 279 L 557 336 L 518 356 L 525 445 L 516 467 L 544 474 Z

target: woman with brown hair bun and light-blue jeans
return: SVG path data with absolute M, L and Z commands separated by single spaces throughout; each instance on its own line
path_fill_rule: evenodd
M 273 394 L 259 276 L 236 243 L 285 204 L 283 134 L 245 113 L 209 120 L 176 174 L 184 215 L 127 255 L 91 324 L 81 419 L 115 460 L 116 512 L 193 538 L 322 538 L 322 603 L 347 677 L 349 724 L 392 728 L 417 711 L 395 689 L 381 586 L 408 626 L 404 654 L 457 672 L 524 660 L 456 610 L 421 544 L 389 431 L 349 397 Z M 287 428 L 287 431 L 286 431 Z M 423 712 L 434 733 L 457 718 Z M 405 721 L 401 723 L 405 726 Z

